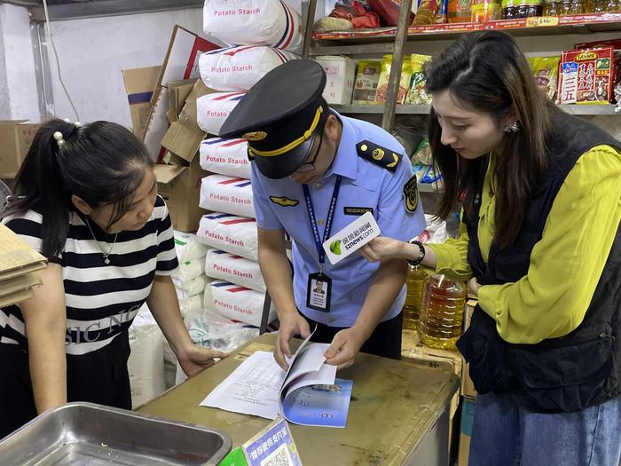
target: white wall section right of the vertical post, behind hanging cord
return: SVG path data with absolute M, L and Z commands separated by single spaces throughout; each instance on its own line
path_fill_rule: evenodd
M 51 23 L 63 81 L 82 122 L 109 120 L 130 127 L 121 70 L 161 65 L 175 24 L 200 34 L 201 9 Z M 60 87 L 51 46 L 48 54 L 54 114 L 74 120 Z

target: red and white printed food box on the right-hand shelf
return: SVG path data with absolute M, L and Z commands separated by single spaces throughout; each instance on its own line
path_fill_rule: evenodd
M 612 97 L 612 47 L 563 51 L 558 102 L 560 104 L 609 104 Z

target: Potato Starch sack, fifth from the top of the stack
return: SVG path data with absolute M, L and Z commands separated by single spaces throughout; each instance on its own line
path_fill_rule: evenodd
M 250 180 L 225 177 L 224 175 L 211 175 L 202 178 L 199 206 L 202 209 L 235 214 L 241 217 L 255 217 Z

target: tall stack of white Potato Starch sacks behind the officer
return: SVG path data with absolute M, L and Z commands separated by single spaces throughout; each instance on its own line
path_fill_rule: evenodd
M 280 0 L 207 0 L 205 33 L 232 46 L 200 56 L 203 82 L 218 92 L 197 101 L 198 123 L 210 136 L 263 75 L 298 56 L 302 45 L 300 15 Z M 257 261 L 255 210 L 250 186 L 248 146 L 244 139 L 209 137 L 200 145 L 200 166 L 213 175 L 203 178 L 202 217 L 197 238 L 210 248 L 205 274 L 204 307 L 221 316 L 258 327 L 265 283 Z M 275 320 L 271 308 L 269 321 Z

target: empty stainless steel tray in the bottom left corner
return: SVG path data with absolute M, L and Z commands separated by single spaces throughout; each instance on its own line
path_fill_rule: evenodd
M 216 465 L 231 450 L 220 430 L 92 403 L 51 409 L 0 441 L 2 466 Z

